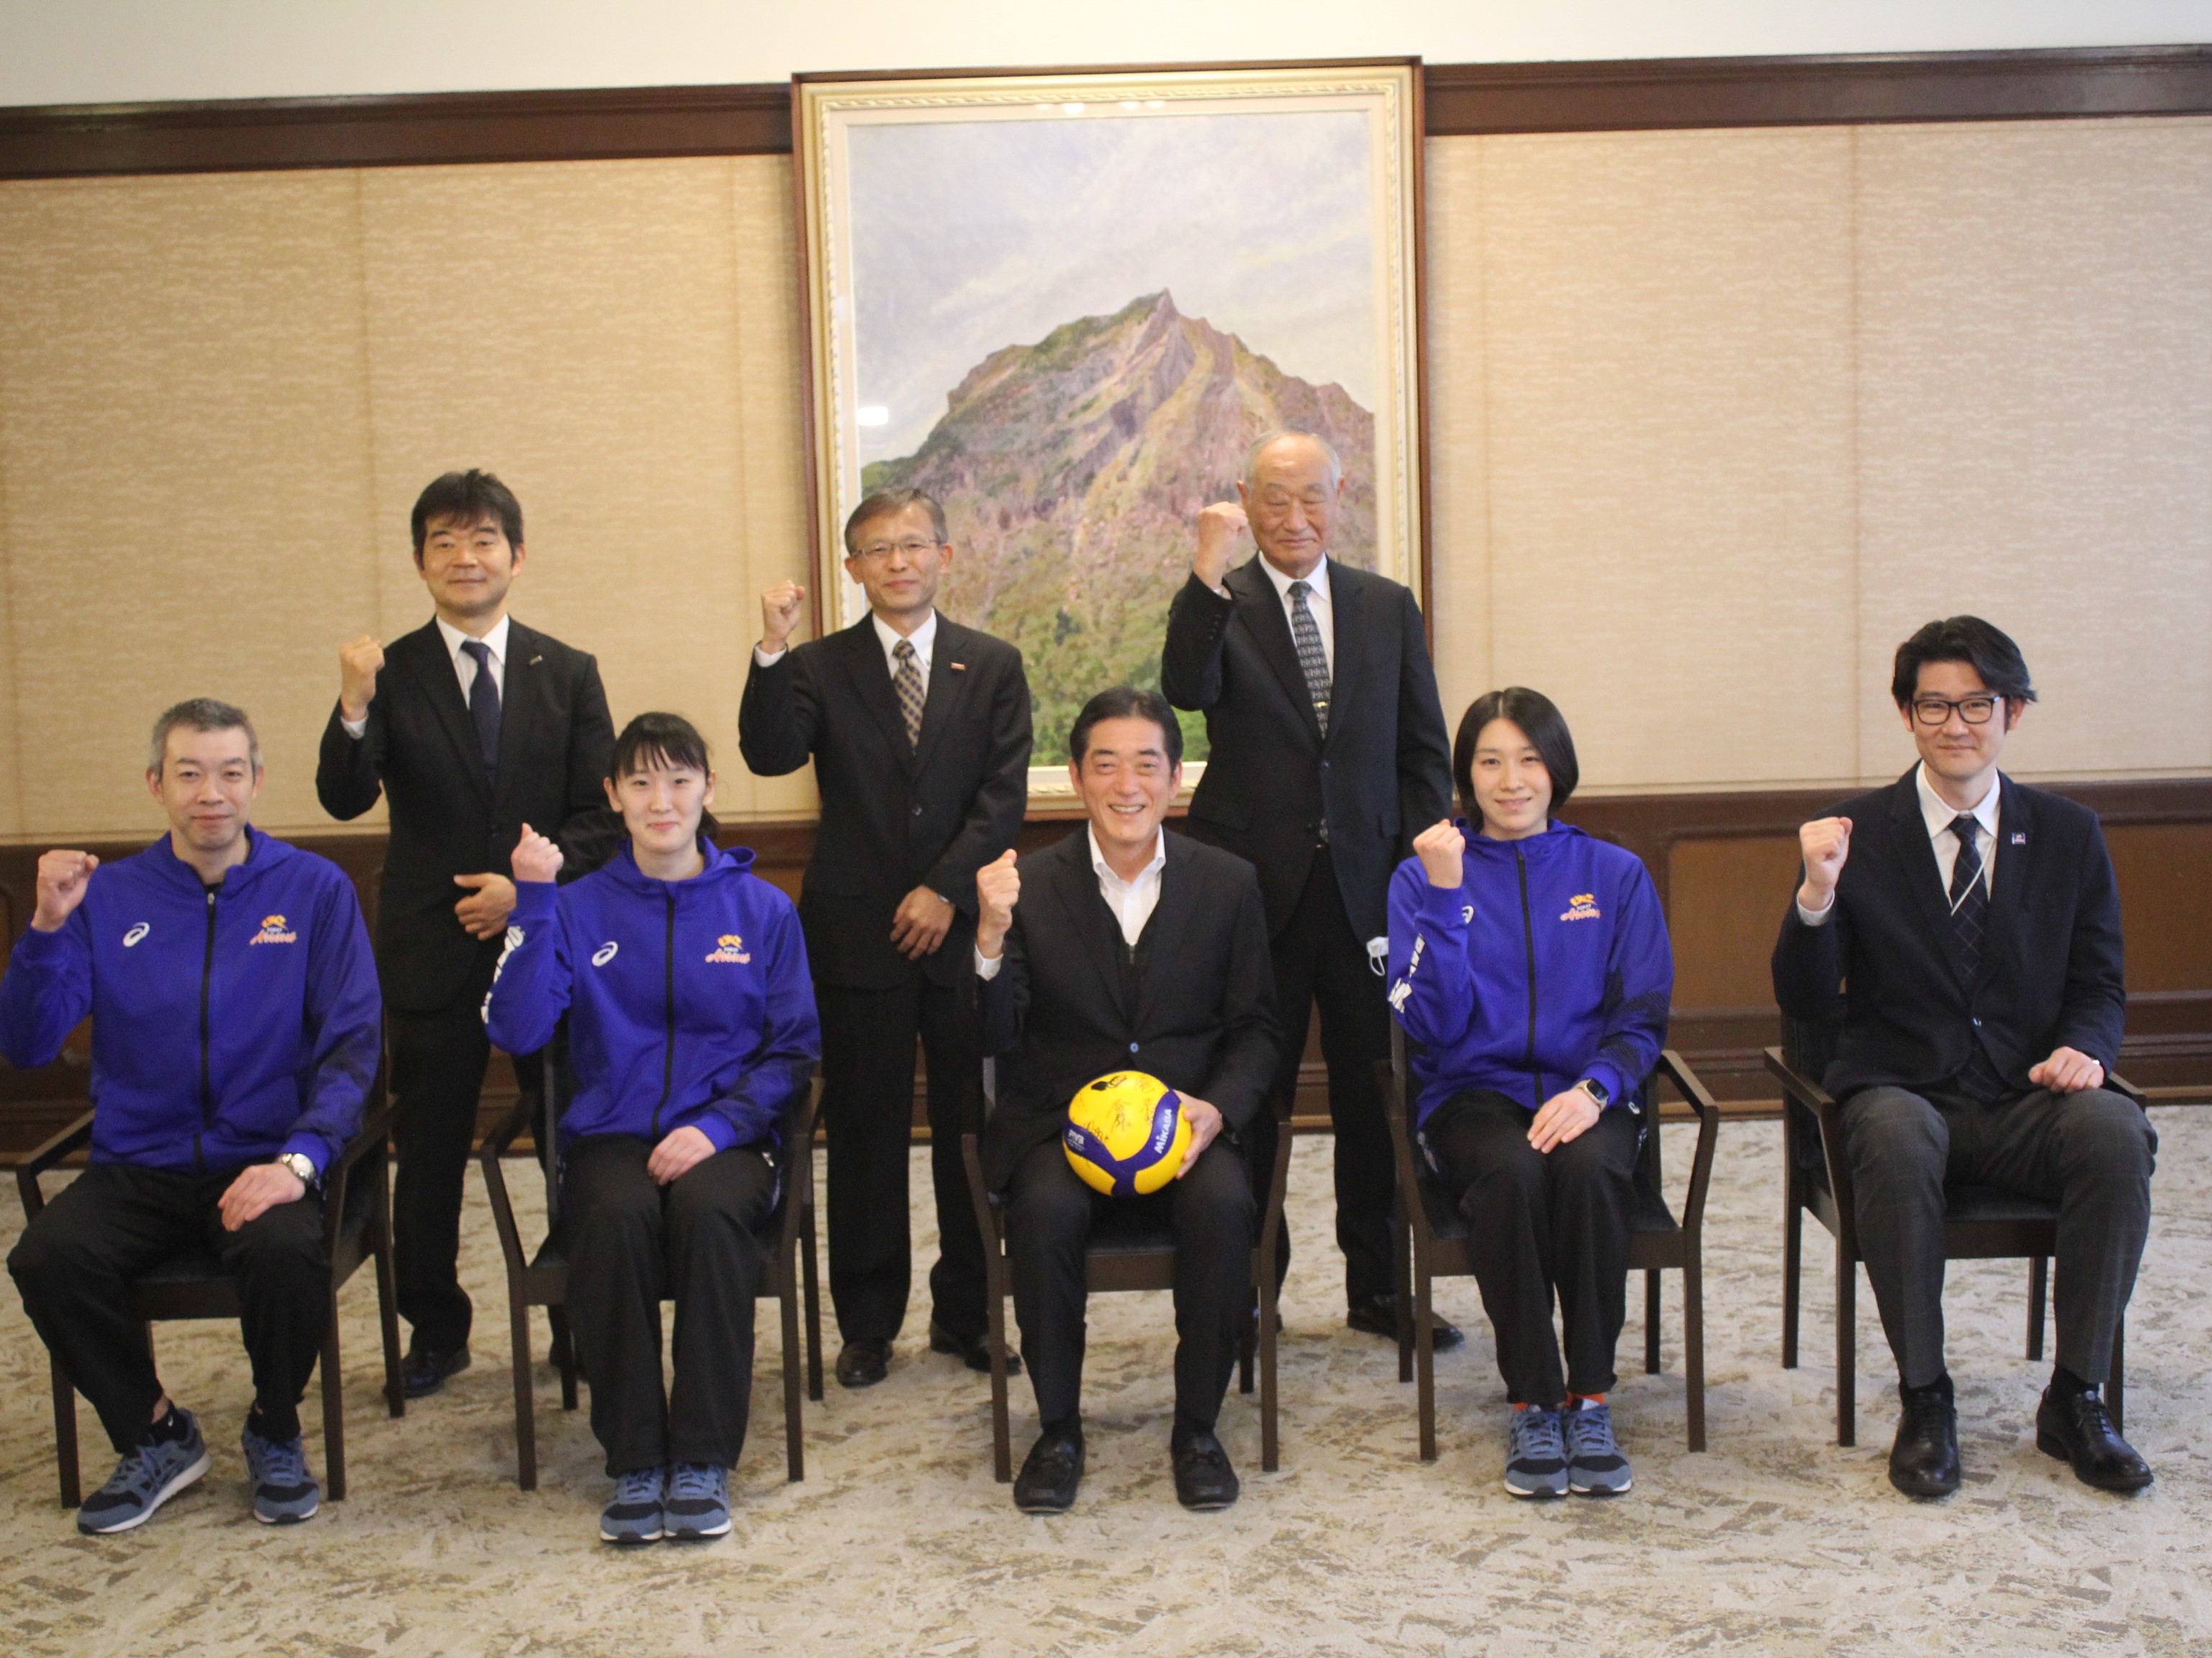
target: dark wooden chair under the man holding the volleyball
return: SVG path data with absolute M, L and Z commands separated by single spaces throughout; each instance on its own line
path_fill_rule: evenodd
M 984 1059 L 984 1114 L 998 1096 L 998 1061 Z M 1276 1433 L 1274 1337 L 1281 1329 L 1281 1300 L 1274 1282 L 1274 1258 L 1283 1236 L 1283 1192 L 1290 1185 L 1290 1096 L 1270 1101 L 1276 1121 L 1274 1167 L 1267 1172 L 1267 1194 L 1261 1203 L 1259 1242 L 1252 1247 L 1252 1291 L 1259 1302 L 1259 1466 L 1274 1472 L 1281 1463 Z M 1006 1408 L 1006 1267 L 1004 1198 L 991 1192 L 982 1174 L 975 1132 L 960 1136 L 960 1158 L 967 1163 L 969 1200 L 975 1205 L 975 1227 L 982 1231 L 984 1300 L 991 1307 L 991 1470 L 1004 1486 L 1013 1479 L 1013 1424 Z M 1084 1280 L 1093 1295 L 1124 1289 L 1175 1289 L 1175 1234 L 1166 1225 L 1121 1225 L 1108 1218 L 1093 1229 L 1084 1256 Z M 1248 1326 L 1237 1355 L 1237 1391 L 1252 1393 L 1254 1331 Z

